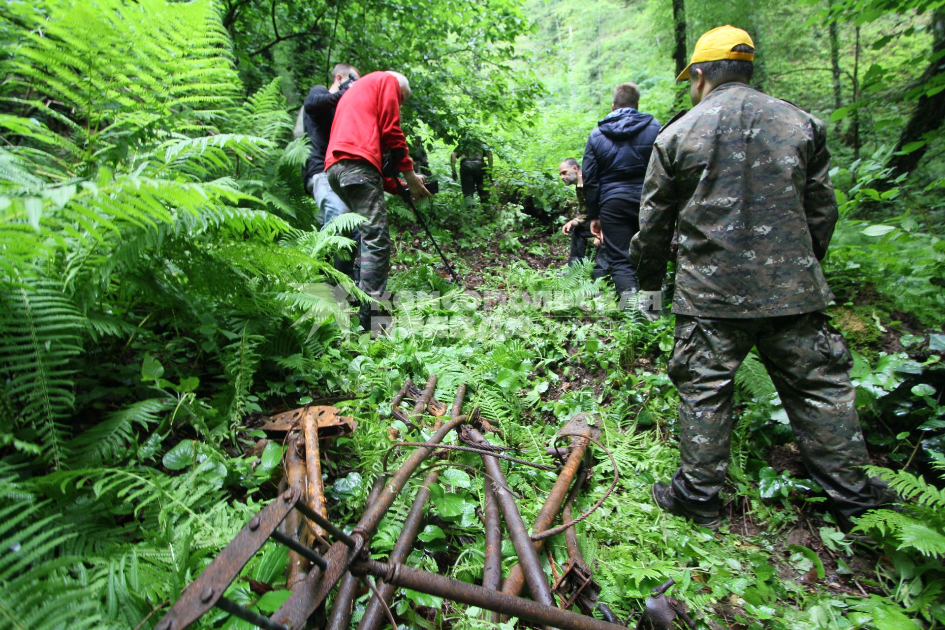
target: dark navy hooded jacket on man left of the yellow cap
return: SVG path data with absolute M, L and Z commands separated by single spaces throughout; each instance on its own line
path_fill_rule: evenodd
M 589 218 L 596 218 L 608 199 L 640 203 L 646 164 L 658 133 L 656 118 L 629 107 L 611 111 L 597 122 L 581 164 Z

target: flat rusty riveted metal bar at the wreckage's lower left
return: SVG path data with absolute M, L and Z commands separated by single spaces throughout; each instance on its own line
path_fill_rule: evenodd
M 183 630 L 213 608 L 249 562 L 249 558 L 263 547 L 283 519 L 293 512 L 292 508 L 300 499 L 301 490 L 290 487 L 279 499 L 270 502 L 249 519 L 210 566 L 201 571 L 197 579 L 181 593 L 180 599 L 154 626 L 155 630 Z

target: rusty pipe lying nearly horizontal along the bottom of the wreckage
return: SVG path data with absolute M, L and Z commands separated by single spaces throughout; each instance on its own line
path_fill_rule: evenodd
M 444 575 L 413 569 L 406 565 L 361 560 L 353 563 L 351 570 L 356 575 L 374 575 L 398 587 L 436 595 L 460 604 L 479 606 L 503 615 L 554 626 L 562 630 L 627 630 L 616 623 L 578 615 L 570 610 L 506 595 L 486 587 L 460 582 Z

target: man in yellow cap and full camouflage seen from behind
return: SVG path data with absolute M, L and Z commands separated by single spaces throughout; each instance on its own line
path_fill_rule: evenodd
M 693 109 L 662 129 L 646 170 L 636 264 L 641 308 L 659 311 L 670 241 L 676 259 L 681 465 L 653 486 L 662 509 L 710 528 L 729 465 L 733 378 L 757 347 L 804 463 L 839 522 L 889 498 L 859 467 L 866 444 L 851 353 L 825 309 L 820 268 L 837 220 L 824 124 L 749 85 L 754 44 L 719 26 L 703 35 L 689 79 Z

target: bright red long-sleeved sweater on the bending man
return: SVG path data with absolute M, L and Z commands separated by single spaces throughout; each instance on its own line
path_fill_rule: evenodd
M 372 72 L 356 80 L 338 101 L 330 138 L 325 170 L 339 160 L 365 160 L 380 171 L 385 149 L 398 148 L 404 149 L 398 170 L 413 170 L 401 129 L 401 86 L 397 77 Z

